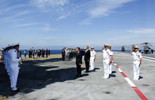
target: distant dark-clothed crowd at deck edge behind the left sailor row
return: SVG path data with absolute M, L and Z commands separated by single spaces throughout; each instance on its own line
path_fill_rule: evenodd
M 29 55 L 29 58 L 37 58 L 37 57 L 45 57 L 45 55 L 46 55 L 46 57 L 48 57 L 48 56 L 50 56 L 50 49 L 46 49 L 46 50 L 44 50 L 44 49 L 38 49 L 38 50 L 32 50 L 32 49 L 30 49 L 29 51 L 28 51 L 28 53 L 27 53 L 27 50 L 25 50 L 24 51 L 24 57 L 25 57 L 25 59 L 26 59 L 26 56 L 27 56 L 27 54 Z

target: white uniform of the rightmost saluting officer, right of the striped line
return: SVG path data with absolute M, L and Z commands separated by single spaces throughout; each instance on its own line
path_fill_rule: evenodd
M 132 52 L 133 55 L 133 73 L 134 73 L 134 80 L 139 79 L 139 72 L 140 72 L 140 59 L 142 58 L 142 54 L 139 52 Z

